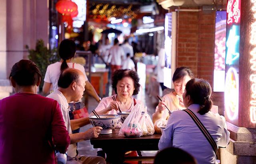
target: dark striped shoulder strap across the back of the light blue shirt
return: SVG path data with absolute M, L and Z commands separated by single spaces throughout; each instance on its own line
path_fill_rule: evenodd
M 217 151 L 218 151 L 218 146 L 216 144 L 216 142 L 214 141 L 214 139 L 212 138 L 211 134 L 208 132 L 208 130 L 205 128 L 205 126 L 201 123 L 201 121 L 198 119 L 198 117 L 196 117 L 196 115 L 190 110 L 190 109 L 184 109 L 183 111 L 185 111 L 186 113 L 188 113 L 188 115 L 192 118 L 192 120 L 196 123 L 196 125 L 198 126 L 198 128 L 201 130 L 201 132 L 204 134 L 205 138 L 208 140 L 208 142 L 210 143 L 210 145 L 212 146 L 215 155 L 217 155 Z

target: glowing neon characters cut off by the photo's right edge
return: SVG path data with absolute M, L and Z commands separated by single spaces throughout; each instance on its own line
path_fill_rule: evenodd
M 252 13 L 254 19 L 256 19 L 256 0 L 251 0 Z M 254 46 L 250 52 L 250 64 L 251 64 L 251 101 L 250 101 L 250 120 L 252 123 L 256 123 L 256 20 L 251 24 L 250 31 L 250 43 Z

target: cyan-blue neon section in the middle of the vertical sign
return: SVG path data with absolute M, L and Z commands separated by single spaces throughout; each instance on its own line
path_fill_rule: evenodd
M 239 57 L 239 35 L 240 26 L 233 25 L 230 28 L 228 39 L 226 41 L 227 46 L 227 55 L 226 55 L 226 64 L 232 65 L 233 62 Z

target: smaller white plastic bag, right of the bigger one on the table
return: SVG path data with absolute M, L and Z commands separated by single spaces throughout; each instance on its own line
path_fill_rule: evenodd
M 154 124 L 150 116 L 148 115 L 147 107 L 145 107 L 145 113 L 144 115 L 142 115 L 139 123 L 142 129 L 143 136 L 149 136 L 154 134 L 155 132 Z

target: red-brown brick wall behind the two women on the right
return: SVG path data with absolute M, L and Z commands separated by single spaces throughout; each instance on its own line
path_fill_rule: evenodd
M 213 86 L 215 12 L 178 12 L 176 66 L 186 66 Z M 213 93 L 212 100 L 224 113 L 224 93 Z

